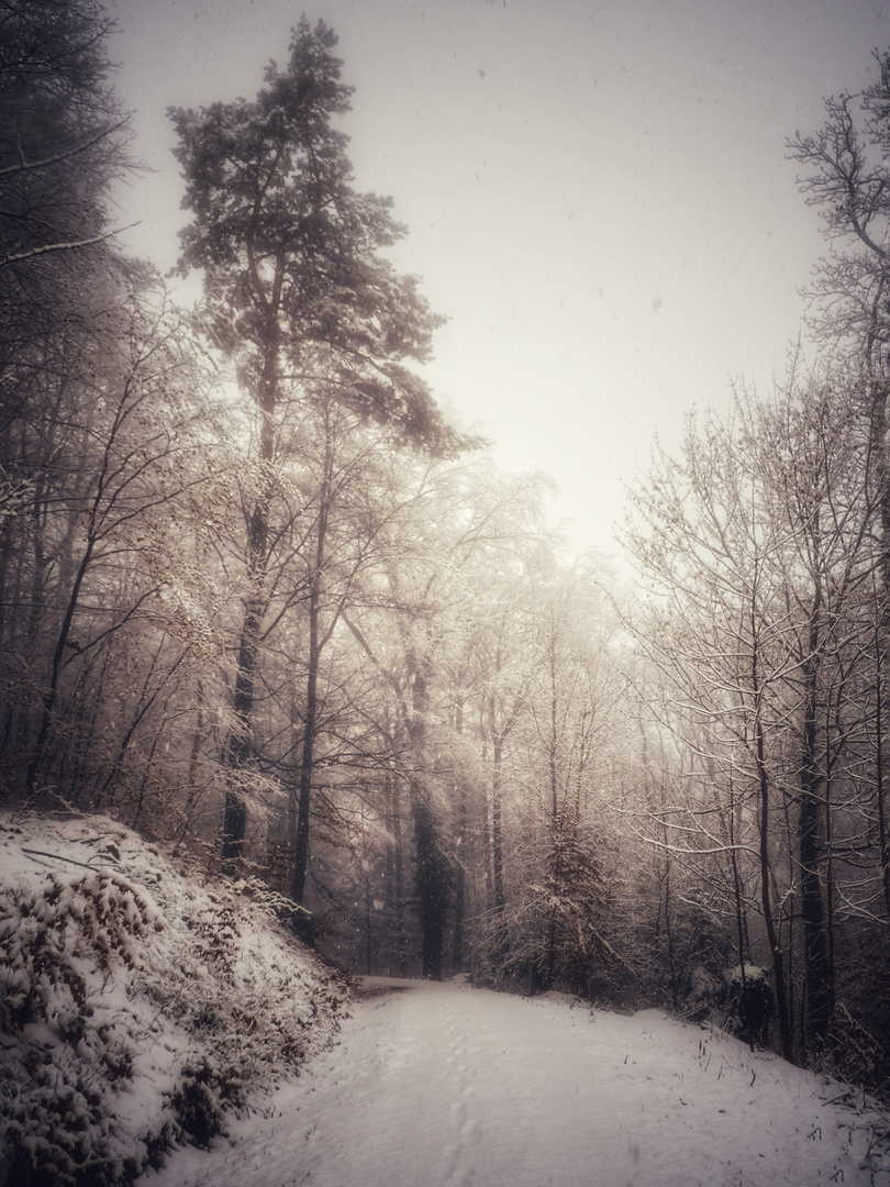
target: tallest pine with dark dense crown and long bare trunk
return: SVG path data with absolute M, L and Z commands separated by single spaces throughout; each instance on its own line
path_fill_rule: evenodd
M 287 436 L 282 392 L 323 374 L 363 415 L 398 426 L 430 450 L 459 444 L 405 360 L 422 362 L 438 319 L 412 277 L 380 254 L 403 234 L 390 202 L 352 186 L 347 137 L 335 121 L 349 110 L 337 38 L 304 18 L 285 70 L 266 70 L 252 102 L 174 108 L 176 155 L 185 171 L 183 273 L 204 274 L 205 325 L 239 368 L 259 415 L 263 482 L 247 514 L 247 592 L 237 648 L 228 744 L 223 858 L 241 855 L 246 805 L 239 770 L 249 767 L 255 683 L 268 604 L 267 565 L 275 461 Z

